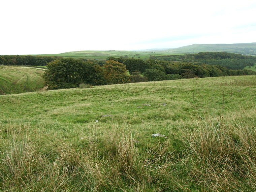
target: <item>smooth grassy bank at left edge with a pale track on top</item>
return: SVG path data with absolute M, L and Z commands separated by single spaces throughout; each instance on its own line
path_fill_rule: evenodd
M 33 67 L 0 65 L 0 95 L 32 92 L 44 87 L 44 70 Z

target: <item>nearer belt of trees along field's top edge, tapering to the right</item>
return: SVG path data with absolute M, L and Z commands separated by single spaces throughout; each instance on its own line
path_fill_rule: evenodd
M 220 65 L 108 57 L 96 60 L 60 58 L 48 64 L 48 89 L 75 88 L 80 84 L 107 85 L 182 78 L 256 75 L 251 70 L 231 70 Z

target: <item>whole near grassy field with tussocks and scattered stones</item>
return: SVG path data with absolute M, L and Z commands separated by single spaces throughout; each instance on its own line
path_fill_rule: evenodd
M 0 191 L 255 191 L 255 104 L 255 76 L 1 95 Z

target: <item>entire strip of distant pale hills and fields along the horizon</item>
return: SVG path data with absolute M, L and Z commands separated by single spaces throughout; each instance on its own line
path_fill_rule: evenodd
M 246 55 L 256 55 L 256 43 L 236 44 L 193 44 L 173 49 L 152 49 L 137 51 L 72 51 L 60 54 L 44 54 L 39 56 L 73 57 L 84 59 L 106 60 L 107 57 L 129 57 L 135 59 L 149 59 L 150 56 L 183 55 L 199 52 L 229 52 Z

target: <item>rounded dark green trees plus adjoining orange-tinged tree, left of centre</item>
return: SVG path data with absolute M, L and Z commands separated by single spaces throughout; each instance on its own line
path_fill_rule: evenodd
M 129 83 L 125 65 L 113 60 L 103 66 L 95 60 L 61 58 L 48 64 L 44 75 L 48 89 L 76 88 L 79 84 L 106 85 Z

